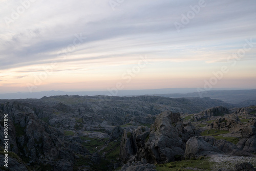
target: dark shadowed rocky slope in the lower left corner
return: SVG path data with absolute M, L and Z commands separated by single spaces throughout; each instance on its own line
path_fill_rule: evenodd
M 30 163 L 48 163 L 52 167 L 58 165 L 55 170 L 73 170 L 74 152 L 90 154 L 80 143 L 66 141 L 61 131 L 39 120 L 33 113 L 10 113 L 8 117 L 9 130 L 12 130 L 9 149 Z M 0 129 L 2 135 L 2 125 Z M 13 170 L 23 168 L 15 159 L 10 159 L 10 163 L 13 163 L 10 164 Z

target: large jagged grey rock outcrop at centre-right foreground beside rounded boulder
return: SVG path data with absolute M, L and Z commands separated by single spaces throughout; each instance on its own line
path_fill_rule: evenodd
M 121 159 L 124 163 L 142 158 L 150 163 L 174 161 L 183 156 L 186 141 L 196 135 L 194 126 L 182 122 L 179 113 L 166 111 L 156 116 L 151 130 L 140 126 L 132 133 L 124 131 Z

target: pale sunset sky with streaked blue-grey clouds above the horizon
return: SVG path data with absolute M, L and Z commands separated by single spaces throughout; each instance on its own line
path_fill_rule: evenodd
M 0 93 L 256 89 L 256 1 L 0 0 Z

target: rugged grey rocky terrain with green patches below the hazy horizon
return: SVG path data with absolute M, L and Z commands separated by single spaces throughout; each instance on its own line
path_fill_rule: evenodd
M 256 106 L 210 98 L 0 100 L 0 170 L 255 170 Z

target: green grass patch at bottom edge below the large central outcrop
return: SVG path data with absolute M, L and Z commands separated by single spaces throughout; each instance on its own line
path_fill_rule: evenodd
M 211 170 L 210 165 L 211 163 L 209 162 L 209 158 L 200 157 L 200 159 L 197 159 L 197 160 L 182 160 L 182 161 L 169 162 L 165 164 L 156 164 L 156 170 L 158 171 L 191 170 L 191 169 L 185 169 L 186 167 Z

